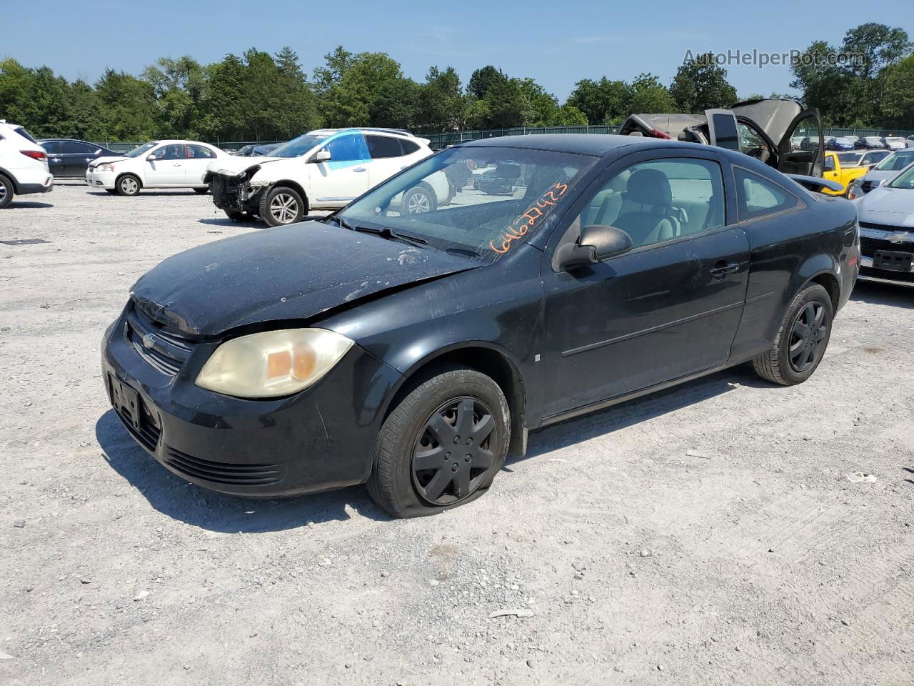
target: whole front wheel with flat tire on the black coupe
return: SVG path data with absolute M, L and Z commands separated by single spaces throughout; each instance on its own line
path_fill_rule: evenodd
M 424 380 L 377 434 L 367 489 L 391 517 L 422 517 L 472 502 L 505 464 L 511 414 L 498 384 L 479 371 L 454 368 Z

